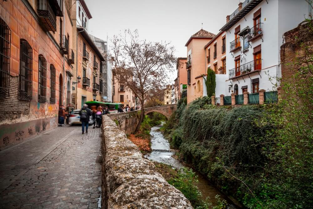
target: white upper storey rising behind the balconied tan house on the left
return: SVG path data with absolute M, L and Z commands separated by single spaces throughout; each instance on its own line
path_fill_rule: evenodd
M 89 19 L 92 16 L 84 0 L 76 1 L 76 24 L 89 32 Z

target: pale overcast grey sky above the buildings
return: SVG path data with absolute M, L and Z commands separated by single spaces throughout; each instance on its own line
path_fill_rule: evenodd
M 138 29 L 141 39 L 171 42 L 186 57 L 187 40 L 203 27 L 213 34 L 244 0 L 85 0 L 92 15 L 89 33 L 103 40 L 124 29 Z M 203 24 L 203 26 L 202 26 Z M 175 79 L 175 73 L 170 75 Z

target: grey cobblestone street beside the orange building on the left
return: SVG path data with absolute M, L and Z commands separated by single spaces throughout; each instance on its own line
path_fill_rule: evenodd
M 100 128 L 59 127 L 0 152 L 0 208 L 100 208 Z

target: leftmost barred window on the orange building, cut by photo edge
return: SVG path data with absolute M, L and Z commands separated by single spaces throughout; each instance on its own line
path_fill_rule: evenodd
M 0 96 L 10 96 L 10 47 L 11 30 L 0 18 Z

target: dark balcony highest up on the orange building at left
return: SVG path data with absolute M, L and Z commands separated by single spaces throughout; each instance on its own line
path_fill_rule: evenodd
M 38 0 L 37 13 L 44 27 L 49 31 L 57 31 L 57 18 L 48 0 Z

